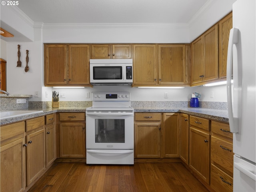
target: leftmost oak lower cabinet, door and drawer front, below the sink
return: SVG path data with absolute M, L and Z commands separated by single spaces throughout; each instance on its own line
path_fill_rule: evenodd
M 26 188 L 24 132 L 25 122 L 1 126 L 1 192 L 22 192 Z

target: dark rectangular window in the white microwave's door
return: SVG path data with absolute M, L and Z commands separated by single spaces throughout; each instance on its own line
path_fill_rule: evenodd
M 93 67 L 93 79 L 95 80 L 122 79 L 122 66 Z

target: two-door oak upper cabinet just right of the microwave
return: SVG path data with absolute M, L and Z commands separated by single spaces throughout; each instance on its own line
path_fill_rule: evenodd
M 186 46 L 134 44 L 133 86 L 186 84 Z

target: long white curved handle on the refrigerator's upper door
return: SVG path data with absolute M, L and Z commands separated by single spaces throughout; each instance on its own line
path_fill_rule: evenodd
M 232 66 L 233 66 L 233 45 L 238 43 L 238 29 L 232 28 L 228 40 L 228 56 L 227 56 L 227 100 L 228 100 L 228 121 L 230 132 L 238 132 L 238 122 L 234 122 L 233 104 L 232 104 Z M 234 66 L 233 66 L 234 68 Z M 234 103 L 238 107 L 238 103 Z

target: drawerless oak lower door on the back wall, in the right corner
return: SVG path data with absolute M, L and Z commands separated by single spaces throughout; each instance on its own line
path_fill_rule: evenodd
M 162 157 L 180 156 L 179 114 L 164 113 Z

